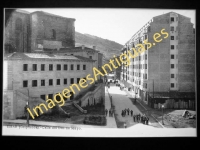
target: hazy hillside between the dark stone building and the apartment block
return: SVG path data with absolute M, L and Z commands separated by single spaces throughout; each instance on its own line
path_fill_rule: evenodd
M 92 48 L 96 46 L 96 50 L 104 54 L 105 59 L 110 59 L 113 55 L 120 55 L 123 45 L 103 39 L 97 36 L 82 34 L 79 32 L 75 33 L 76 46 L 85 45 L 86 47 Z

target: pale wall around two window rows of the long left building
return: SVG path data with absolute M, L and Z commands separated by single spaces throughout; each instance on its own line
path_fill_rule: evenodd
M 92 63 L 81 62 L 81 61 L 53 61 L 53 60 L 12 60 L 7 61 L 12 70 L 10 74 L 13 77 L 7 78 L 7 85 L 5 87 L 12 88 L 14 85 L 14 90 L 20 90 L 22 93 L 26 93 L 27 88 L 23 87 L 23 80 L 28 80 L 28 88 L 30 96 L 40 97 L 43 94 L 56 94 L 62 92 L 64 88 L 69 88 L 71 85 L 70 78 L 74 78 L 74 83 L 77 83 L 77 78 L 84 78 L 92 71 Z M 15 64 L 15 65 L 12 65 Z M 23 64 L 28 64 L 29 71 L 23 71 Z M 32 64 L 37 64 L 38 71 L 32 71 Z M 41 71 L 41 64 L 45 64 L 45 70 Z M 49 64 L 53 64 L 54 71 L 49 71 Z M 61 64 L 61 71 L 56 70 L 56 65 Z M 63 70 L 63 65 L 68 64 L 68 70 Z M 70 64 L 74 64 L 74 71 L 69 70 Z M 80 64 L 80 70 L 77 70 L 77 64 Z M 83 64 L 86 64 L 86 70 L 82 70 Z M 92 75 L 92 74 L 91 74 Z M 67 78 L 67 85 L 64 85 L 63 79 Z M 41 79 L 45 79 L 45 86 L 41 86 Z M 49 86 L 49 79 L 53 79 L 53 86 Z M 60 85 L 56 85 L 56 79 L 60 79 Z M 37 87 L 32 87 L 32 80 L 37 80 Z M 90 83 L 90 81 L 88 81 Z M 90 86 L 90 84 L 89 84 Z M 79 91 L 74 87 L 76 95 Z M 81 91 L 85 91 L 86 88 L 80 88 Z

